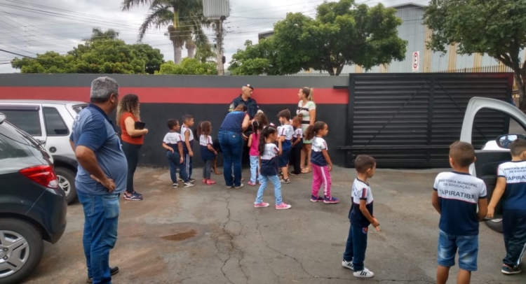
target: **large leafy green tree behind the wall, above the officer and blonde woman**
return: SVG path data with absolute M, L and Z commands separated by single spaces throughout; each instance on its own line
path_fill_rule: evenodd
M 316 8 L 314 19 L 288 13 L 274 25 L 274 36 L 257 44 L 263 46 L 238 50 L 229 70 L 239 75 L 258 70 L 282 75 L 313 68 L 336 76 L 348 64 L 368 70 L 405 59 L 407 41 L 398 37 L 400 24 L 396 10 L 382 4 L 369 8 L 353 0 L 324 2 Z M 255 59 L 269 59 L 268 66 Z M 245 63 L 248 66 L 241 67 Z

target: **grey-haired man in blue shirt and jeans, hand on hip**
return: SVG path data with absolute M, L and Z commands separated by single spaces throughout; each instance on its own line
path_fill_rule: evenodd
M 109 250 L 117 240 L 119 195 L 126 190 L 126 157 L 108 115 L 119 103 L 119 84 L 108 77 L 91 83 L 90 105 L 75 118 L 70 143 L 79 161 L 75 186 L 84 210 L 83 246 L 88 283 L 111 284 Z

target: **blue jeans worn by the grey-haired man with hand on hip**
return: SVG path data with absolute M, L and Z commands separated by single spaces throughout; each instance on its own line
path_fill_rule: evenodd
M 120 194 L 86 194 L 76 192 L 84 210 L 84 255 L 88 277 L 95 284 L 111 284 L 109 250 L 117 241 Z

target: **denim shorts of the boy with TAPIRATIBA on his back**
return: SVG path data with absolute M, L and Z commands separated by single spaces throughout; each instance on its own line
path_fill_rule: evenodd
M 455 236 L 440 230 L 438 234 L 438 265 L 453 267 L 454 257 L 459 251 L 459 268 L 477 271 L 478 235 Z

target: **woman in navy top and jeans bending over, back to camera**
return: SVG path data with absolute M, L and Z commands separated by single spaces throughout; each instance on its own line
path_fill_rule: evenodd
M 219 128 L 217 136 L 223 152 L 223 176 L 227 188 L 235 187 L 238 190 L 243 187 L 241 183 L 243 132 L 248 128 L 249 121 L 247 106 L 240 104 L 227 114 Z M 234 178 L 232 178 L 232 169 L 234 169 Z

